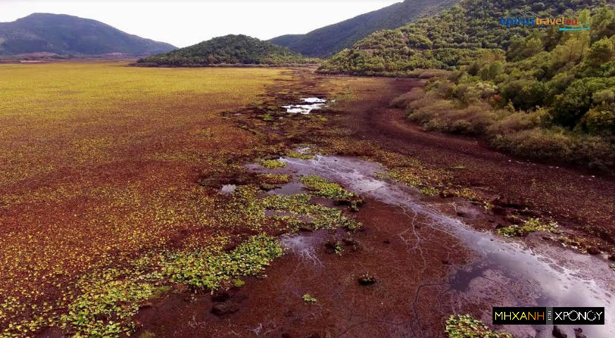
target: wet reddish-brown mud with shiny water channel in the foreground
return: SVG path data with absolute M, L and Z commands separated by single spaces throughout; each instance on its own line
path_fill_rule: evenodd
M 490 323 L 492 306 L 531 305 L 604 306 L 605 321 L 612 323 L 615 278 L 600 258 L 554 245 L 530 249 L 476 230 L 467 219 L 487 217 L 480 207 L 426 199 L 381 178 L 379 164 L 319 155 L 281 161 L 286 167 L 274 171 L 249 167 L 293 175 L 294 181 L 270 193 L 301 193 L 297 178 L 314 174 L 359 193 L 366 200 L 355 215 L 362 230 L 284 235 L 286 255 L 267 269 L 265 280 L 248 278 L 243 287 L 188 301 L 171 294 L 141 311 L 142 331 L 177 337 L 440 337 L 452 313 Z M 449 216 L 451 204 L 463 216 Z M 373 285 L 358 282 L 366 274 L 376 279 Z M 316 301 L 303 301 L 304 294 Z M 615 334 L 613 325 L 582 328 L 588 337 Z M 551 337 L 551 329 L 497 327 L 519 337 Z M 573 337 L 573 327 L 564 332 Z

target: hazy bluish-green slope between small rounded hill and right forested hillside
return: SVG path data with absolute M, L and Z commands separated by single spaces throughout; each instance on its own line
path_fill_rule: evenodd
M 307 34 L 287 34 L 274 37 L 272 44 L 285 46 L 305 56 L 331 56 L 343 48 L 378 30 L 391 30 L 434 15 L 459 0 L 405 0 L 355 18 L 313 30 Z

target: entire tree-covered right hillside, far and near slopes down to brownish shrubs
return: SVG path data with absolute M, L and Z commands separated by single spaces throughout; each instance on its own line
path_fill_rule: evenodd
M 507 9 L 516 8 L 512 3 L 492 4 L 463 1 L 437 18 L 373 34 L 320 71 L 414 75 L 409 72 L 415 67 L 453 68 L 414 71 L 436 76 L 394 104 L 426 130 L 476 135 L 498 150 L 532 160 L 612 172 L 614 6 L 552 1 L 521 7 L 538 11 L 539 18 L 563 15 L 589 27 L 562 31 L 559 25 L 507 28 L 499 18 L 525 15 Z

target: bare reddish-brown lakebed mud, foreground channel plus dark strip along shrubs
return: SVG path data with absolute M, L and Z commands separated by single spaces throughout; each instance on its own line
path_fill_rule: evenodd
M 369 98 L 345 100 L 324 107 L 318 115 L 272 116 L 274 107 L 281 104 L 298 103 L 301 97 L 326 97 L 324 91 L 312 89 L 318 77 L 296 75 L 308 78 L 293 84 L 296 92 L 276 95 L 280 88 L 274 87 L 260 105 L 226 116 L 241 128 L 286 147 L 307 142 L 326 152 L 348 154 L 354 146 L 355 155 L 370 157 L 369 150 L 360 149 L 367 140 L 416 157 L 426 167 L 463 164 L 463 170 L 452 175 L 455 184 L 497 195 L 507 201 L 502 209 L 529 207 L 538 216 L 552 217 L 570 233 L 577 231 L 598 243 L 592 245 L 600 245 L 602 255 L 566 249 L 544 240 L 548 236 L 540 233 L 522 240 L 502 238 L 493 233 L 495 224 L 507 222 L 501 213 L 462 197 L 423 195 L 387 178 L 386 168 L 357 157 L 283 157 L 286 165 L 281 169 L 248 164 L 246 170 L 293 177 L 267 194 L 306 193 L 298 178 L 311 174 L 339 183 L 364 197 L 365 204 L 356 213 L 338 206 L 363 227 L 357 233 L 338 229 L 284 235 L 281 244 L 286 254 L 265 275 L 246 278 L 241 287 L 211 295 L 167 294 L 140 311 L 137 334 L 440 337 L 450 314 L 471 313 L 490 323 L 491 306 L 605 306 L 607 313 L 615 312 L 615 278 L 604 259 L 612 251 L 607 235 L 613 231 L 609 227 L 614 214 L 609 193 L 613 182 L 608 176 L 524 162 L 466 138 L 426 134 L 407 124 L 402 112 L 386 106 L 395 91 L 421 85 L 415 80 L 383 79 L 387 86 L 380 91 L 362 92 L 372 92 Z M 324 123 L 330 129 L 310 124 L 323 122 L 322 117 L 330 120 Z M 272 120 L 275 123 L 269 123 Z M 349 145 L 336 150 L 331 145 L 341 138 Z M 241 184 L 241 180 L 222 183 Z M 226 188 L 224 193 L 232 190 Z M 334 207 L 331 200 L 320 197 L 312 197 L 312 202 Z M 376 282 L 362 285 L 360 276 L 365 274 Z M 304 301 L 304 294 L 316 301 Z M 583 332 L 588 337 L 610 337 L 615 333 L 611 321 L 607 314 L 607 325 L 583 327 Z M 550 337 L 552 327 L 495 329 L 519 337 Z M 563 328 L 569 337 L 572 329 Z

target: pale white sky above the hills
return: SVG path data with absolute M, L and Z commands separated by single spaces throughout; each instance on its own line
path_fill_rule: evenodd
M 303 34 L 401 0 L 53 1 L 0 0 L 0 22 L 31 13 L 99 20 L 139 37 L 190 46 L 226 34 Z

